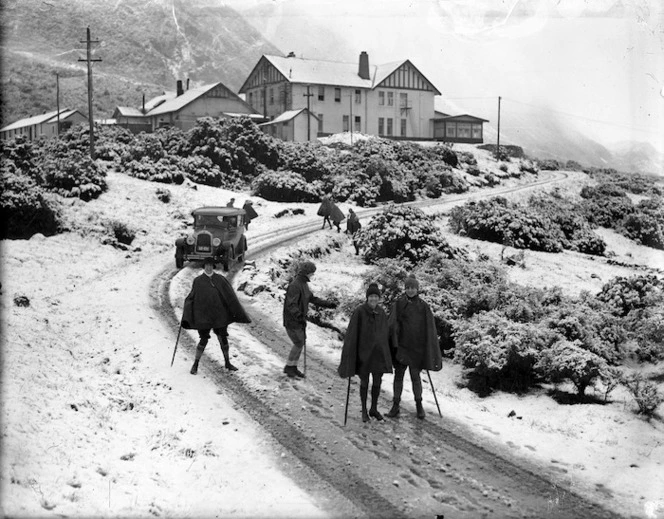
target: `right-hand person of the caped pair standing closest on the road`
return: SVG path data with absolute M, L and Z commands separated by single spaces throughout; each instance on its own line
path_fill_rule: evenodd
M 417 417 L 424 419 L 422 406 L 422 380 L 420 372 L 425 369 L 439 371 L 443 367 L 436 324 L 433 312 L 424 302 L 419 292 L 419 282 L 409 276 L 404 283 L 405 293 L 392 305 L 390 311 L 390 347 L 394 363 L 394 400 L 387 416 L 399 415 L 401 392 L 406 369 L 410 372 Z

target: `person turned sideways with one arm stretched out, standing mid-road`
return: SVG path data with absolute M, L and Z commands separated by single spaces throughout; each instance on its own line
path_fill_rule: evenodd
M 288 360 L 284 367 L 284 373 L 290 378 L 304 378 L 304 373 L 297 369 L 300 355 L 307 341 L 307 313 L 309 303 L 323 308 L 335 308 L 336 303 L 314 296 L 309 289 L 311 281 L 316 272 L 316 265 L 311 261 L 303 261 L 297 270 L 297 275 L 286 289 L 284 300 L 284 328 L 288 337 L 293 342 L 293 347 L 288 354 Z

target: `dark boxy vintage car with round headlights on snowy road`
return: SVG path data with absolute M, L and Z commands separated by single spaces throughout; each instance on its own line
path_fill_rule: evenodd
M 236 207 L 199 207 L 191 212 L 194 229 L 175 240 L 175 266 L 212 256 L 228 270 L 234 261 L 244 261 L 247 250 L 245 210 Z

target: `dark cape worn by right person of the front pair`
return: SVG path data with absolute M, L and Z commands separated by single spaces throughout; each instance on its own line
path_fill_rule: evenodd
M 393 359 L 420 370 L 442 369 L 433 312 L 419 295 L 413 299 L 401 295 L 392 305 L 389 323 Z

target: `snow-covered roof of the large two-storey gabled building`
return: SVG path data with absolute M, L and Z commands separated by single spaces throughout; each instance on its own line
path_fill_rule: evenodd
M 417 72 L 422 74 L 409 60 L 393 61 L 384 65 L 370 65 L 369 79 L 362 79 L 358 75 L 359 63 L 341 63 L 337 61 L 324 61 L 314 59 L 304 59 L 297 57 L 284 58 L 281 56 L 271 56 L 264 54 L 251 73 L 247 76 L 239 92 L 244 93 L 248 88 L 248 82 L 254 75 L 254 72 L 265 62 L 270 63 L 284 78 L 290 83 L 306 83 L 312 85 L 334 85 L 352 88 L 376 88 L 385 78 L 389 77 L 395 70 L 404 64 L 409 64 Z M 426 81 L 434 89 L 435 94 L 440 92 L 433 86 L 433 83 Z

